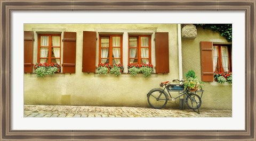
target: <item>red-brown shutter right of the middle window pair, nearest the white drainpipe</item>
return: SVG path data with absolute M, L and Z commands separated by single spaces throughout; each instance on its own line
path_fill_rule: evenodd
M 169 73 L 168 32 L 156 32 L 156 73 Z

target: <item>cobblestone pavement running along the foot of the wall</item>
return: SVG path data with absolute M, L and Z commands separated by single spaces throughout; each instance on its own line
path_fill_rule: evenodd
M 232 117 L 231 110 L 24 105 L 24 117 Z

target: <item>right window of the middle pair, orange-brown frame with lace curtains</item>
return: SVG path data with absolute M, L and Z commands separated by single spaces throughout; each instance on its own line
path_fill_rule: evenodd
M 149 35 L 129 36 L 129 63 L 151 63 L 151 40 Z

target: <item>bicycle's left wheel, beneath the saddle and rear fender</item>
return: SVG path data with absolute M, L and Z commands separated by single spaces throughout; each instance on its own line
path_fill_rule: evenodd
M 150 107 L 155 109 L 161 109 L 165 107 L 166 103 L 167 94 L 163 90 L 156 89 L 149 92 L 148 104 L 150 105 Z

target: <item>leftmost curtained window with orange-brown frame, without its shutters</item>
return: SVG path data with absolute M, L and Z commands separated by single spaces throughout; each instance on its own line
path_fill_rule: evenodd
M 39 63 L 60 64 L 60 34 L 38 35 L 38 57 Z

